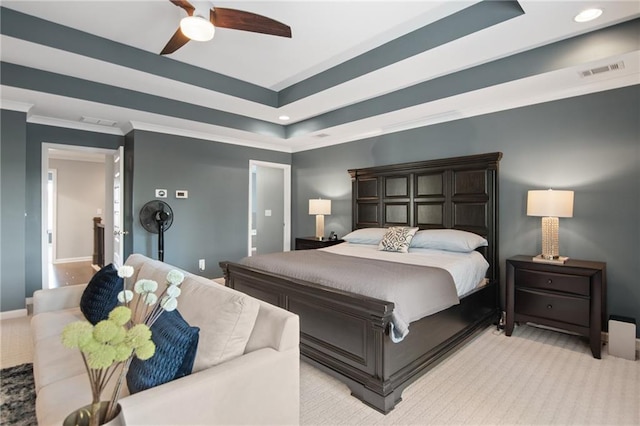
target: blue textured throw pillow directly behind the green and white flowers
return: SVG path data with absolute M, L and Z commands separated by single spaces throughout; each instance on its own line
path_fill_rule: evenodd
M 200 328 L 191 327 L 177 310 L 163 312 L 151 326 L 156 353 L 131 360 L 127 372 L 129 393 L 134 394 L 188 376 L 196 358 Z

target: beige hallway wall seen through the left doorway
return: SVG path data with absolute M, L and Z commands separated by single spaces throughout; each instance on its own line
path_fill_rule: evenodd
M 50 159 L 56 169 L 56 259 L 78 259 L 93 254 L 93 218 L 104 217 L 104 163 Z

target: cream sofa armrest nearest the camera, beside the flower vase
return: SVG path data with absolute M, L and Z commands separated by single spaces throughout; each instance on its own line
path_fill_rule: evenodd
M 298 424 L 300 352 L 272 348 L 120 400 L 134 425 Z

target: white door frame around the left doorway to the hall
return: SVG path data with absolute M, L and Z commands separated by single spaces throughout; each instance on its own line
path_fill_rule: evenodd
M 48 191 L 47 191 L 47 180 L 49 173 L 49 150 L 50 149 L 59 149 L 63 151 L 74 151 L 74 152 L 84 152 L 84 153 L 92 153 L 92 154 L 104 154 L 105 156 L 113 156 L 117 150 L 106 149 L 106 148 L 93 148 L 87 146 L 79 146 L 79 145 L 66 145 L 59 143 L 50 143 L 43 142 L 41 145 L 41 165 L 40 165 L 40 195 L 41 195 L 41 209 L 40 209 L 40 241 L 41 241 L 41 258 L 42 258 L 42 288 L 49 288 L 49 254 L 48 254 L 48 238 L 47 238 L 47 215 L 48 215 Z M 105 159 L 106 164 L 106 159 Z M 107 167 L 105 167 L 105 185 L 106 188 L 109 186 L 113 186 L 109 184 L 109 181 L 106 180 L 107 177 Z M 111 206 L 111 207 L 110 207 Z M 105 210 L 103 215 L 108 217 L 107 215 L 113 213 L 111 212 L 113 206 L 113 189 L 111 191 L 105 191 Z M 54 224 L 55 226 L 55 224 Z M 105 235 L 113 234 L 113 220 L 110 220 L 108 223 L 105 223 Z M 106 254 L 106 253 L 105 253 Z

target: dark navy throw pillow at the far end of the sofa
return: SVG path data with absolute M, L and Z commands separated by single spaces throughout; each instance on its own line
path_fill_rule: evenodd
M 96 272 L 80 298 L 80 310 L 87 321 L 95 325 L 107 319 L 109 312 L 118 305 L 122 286 L 123 279 L 112 263 Z

